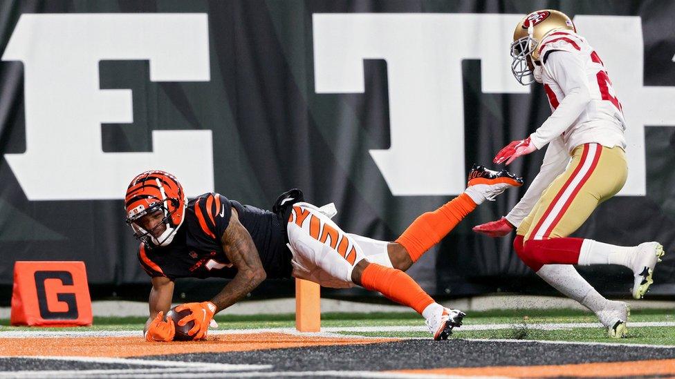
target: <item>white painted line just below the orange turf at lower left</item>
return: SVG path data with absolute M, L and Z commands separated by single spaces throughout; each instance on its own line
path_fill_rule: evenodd
M 232 365 L 230 363 L 183 362 L 180 360 L 149 360 L 149 359 L 134 359 L 134 358 L 107 358 L 107 357 L 80 357 L 80 356 L 0 356 L 0 359 L 7 359 L 7 358 L 64 360 L 64 361 L 77 361 L 86 363 L 105 363 L 108 365 L 159 366 L 159 367 L 173 367 L 176 369 L 183 369 L 183 370 L 201 368 L 210 370 L 216 369 L 221 371 L 239 371 L 239 370 L 263 370 L 272 368 L 272 365 Z M 37 372 L 37 371 L 30 371 L 30 372 Z

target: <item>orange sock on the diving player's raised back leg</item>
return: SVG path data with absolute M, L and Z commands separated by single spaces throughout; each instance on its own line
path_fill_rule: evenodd
M 396 242 L 405 247 L 413 262 L 417 262 L 427 250 L 441 242 L 443 237 L 475 208 L 476 203 L 471 200 L 471 197 L 462 193 L 436 211 L 417 217 Z

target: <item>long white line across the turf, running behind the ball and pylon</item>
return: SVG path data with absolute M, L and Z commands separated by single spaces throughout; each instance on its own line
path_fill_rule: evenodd
M 463 325 L 457 332 L 461 331 L 481 331 L 481 330 L 500 330 L 500 329 L 533 329 L 533 330 L 557 330 L 571 328 L 602 328 L 600 322 L 558 322 L 558 323 L 516 323 L 516 324 L 469 324 Z M 629 328 L 639 327 L 675 327 L 675 321 L 658 322 L 628 322 Z M 424 326 L 401 326 L 401 327 L 325 327 L 321 328 L 319 333 L 304 333 L 295 330 L 295 328 L 266 328 L 266 329 L 231 329 L 209 331 L 209 336 L 223 336 L 230 334 L 255 334 L 255 333 L 285 333 L 293 336 L 317 336 L 317 337 L 340 337 L 349 338 L 349 336 L 335 335 L 340 332 L 369 333 L 378 331 L 428 331 Z M 142 338 L 140 331 L 0 331 L 0 338 L 63 338 L 63 337 L 138 337 Z M 358 336 L 358 338 L 369 338 Z M 374 337 L 378 338 L 378 337 Z

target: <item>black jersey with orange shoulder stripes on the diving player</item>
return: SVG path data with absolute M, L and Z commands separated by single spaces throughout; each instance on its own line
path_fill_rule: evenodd
M 217 193 L 191 200 L 185 220 L 171 244 L 151 249 L 141 243 L 138 260 L 148 275 L 176 278 L 233 278 L 237 269 L 223 251 L 221 236 L 232 208 L 251 235 L 268 278 L 290 278 L 291 253 L 286 246 L 286 220 L 270 211 L 242 205 Z

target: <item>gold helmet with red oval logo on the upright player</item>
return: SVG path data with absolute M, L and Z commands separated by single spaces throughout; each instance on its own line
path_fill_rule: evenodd
M 539 65 L 539 43 L 555 30 L 577 31 L 566 14 L 553 9 L 532 12 L 516 25 L 511 43 L 511 72 L 523 86 L 535 81 L 533 71 L 534 65 Z

